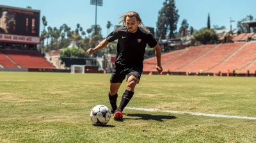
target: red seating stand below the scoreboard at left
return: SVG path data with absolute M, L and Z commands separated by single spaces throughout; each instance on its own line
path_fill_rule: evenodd
M 1 51 L 10 57 L 21 68 L 55 68 L 48 63 L 37 51 L 32 50 L 6 50 Z

